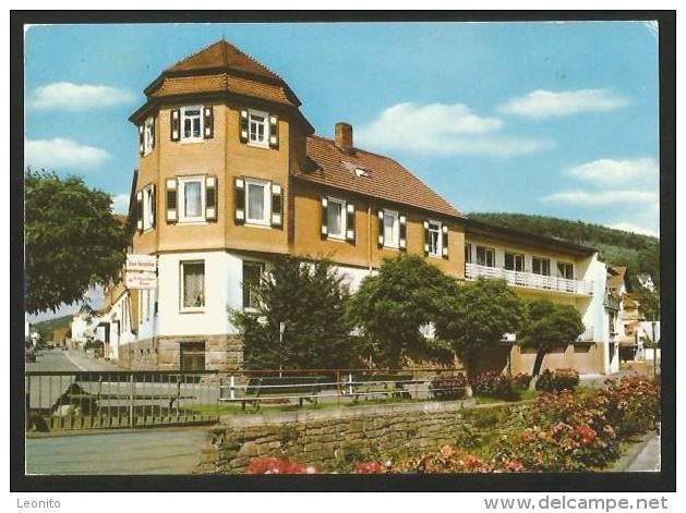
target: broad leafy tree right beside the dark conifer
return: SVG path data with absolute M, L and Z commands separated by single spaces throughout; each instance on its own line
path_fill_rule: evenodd
M 421 332 L 431 325 L 456 280 L 417 255 L 384 259 L 378 274 L 364 279 L 348 315 L 371 342 L 375 361 L 399 368 L 412 359 L 445 359 Z

